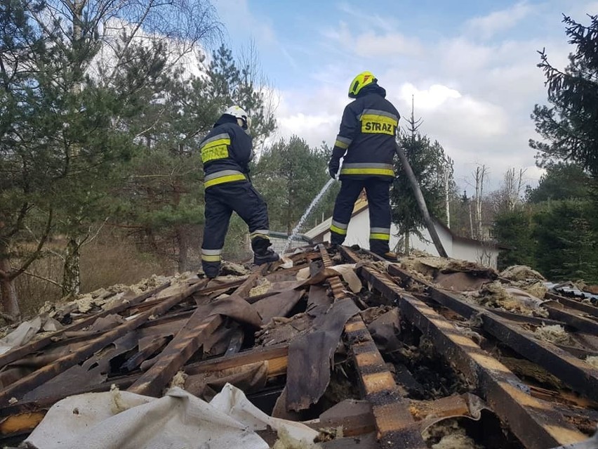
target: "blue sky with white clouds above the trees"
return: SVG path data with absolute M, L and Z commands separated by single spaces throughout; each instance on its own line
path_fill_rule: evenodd
M 566 64 L 562 13 L 587 22 L 596 0 L 216 0 L 234 51 L 252 42 L 277 99 L 277 137 L 331 144 L 347 88 L 370 70 L 407 116 L 414 96 L 421 131 L 455 161 L 468 188 L 476 164 L 498 188 L 509 167 L 541 174 L 528 146 L 529 118 L 545 100 L 537 50 Z M 469 188 L 469 190 L 471 190 Z

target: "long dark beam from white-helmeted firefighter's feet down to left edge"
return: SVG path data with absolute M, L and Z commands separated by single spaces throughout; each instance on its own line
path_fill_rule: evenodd
M 27 375 L 22 379 L 19 379 L 17 382 L 7 386 L 4 390 L 0 391 L 0 407 L 8 405 L 8 401 L 11 398 L 19 399 L 27 391 L 40 386 L 50 379 L 53 379 L 55 376 L 67 370 L 69 367 L 83 362 L 96 351 L 100 351 L 100 349 L 103 349 L 105 346 L 112 343 L 112 341 L 140 327 L 140 325 L 149 320 L 151 316 L 161 315 L 162 313 L 170 310 L 180 301 L 190 297 L 194 292 L 197 292 L 199 289 L 204 287 L 204 285 L 206 285 L 206 282 L 198 282 L 196 285 L 187 287 L 185 290 L 180 292 L 180 294 L 176 294 L 173 297 L 164 299 L 164 301 L 162 301 L 160 304 L 157 304 L 149 311 L 140 313 L 140 315 L 136 316 L 135 318 L 128 320 L 126 323 L 123 323 L 118 327 L 115 327 L 114 330 L 111 330 L 106 334 L 102 334 L 100 337 L 93 339 L 89 342 L 89 344 L 81 347 L 77 351 L 69 353 L 66 356 L 62 356 L 54 363 L 51 363 L 51 365 L 41 367 L 39 370 L 36 370 L 30 375 Z

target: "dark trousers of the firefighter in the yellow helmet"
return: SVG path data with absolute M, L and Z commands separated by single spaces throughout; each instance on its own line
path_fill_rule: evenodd
M 376 254 L 385 254 L 390 251 L 390 184 L 389 180 L 368 177 L 368 178 L 344 178 L 332 215 L 331 243 L 342 245 L 347 237 L 347 228 L 353 213 L 355 201 L 361 190 L 366 189 L 368 198 L 368 209 L 370 214 L 370 249 Z

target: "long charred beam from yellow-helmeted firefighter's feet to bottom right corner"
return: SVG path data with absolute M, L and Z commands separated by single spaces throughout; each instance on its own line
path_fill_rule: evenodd
M 341 250 L 347 259 L 359 261 L 350 249 L 343 247 Z M 505 365 L 483 351 L 430 306 L 400 289 L 390 276 L 370 266 L 360 268 L 359 274 L 371 282 L 380 294 L 396 302 L 402 315 L 434 342 L 434 348 L 451 365 L 479 388 L 492 410 L 510 425 L 526 448 L 550 448 L 585 438 L 559 412 L 526 393 L 526 386 Z

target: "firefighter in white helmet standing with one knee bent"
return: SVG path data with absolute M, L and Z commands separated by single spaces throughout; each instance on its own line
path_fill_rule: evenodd
M 200 144 L 206 195 L 201 265 L 208 278 L 215 278 L 220 271 L 232 212 L 237 212 L 249 227 L 253 262 L 262 265 L 279 259 L 270 248 L 266 203 L 248 177 L 248 164 L 253 159 L 250 128 L 247 113 L 231 106 Z

